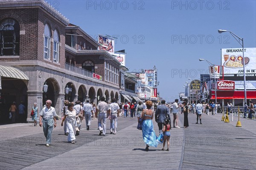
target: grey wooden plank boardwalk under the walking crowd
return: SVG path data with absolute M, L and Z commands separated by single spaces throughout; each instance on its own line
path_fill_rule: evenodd
M 242 127 L 236 127 L 237 117 L 224 123 L 221 116 L 203 115 L 203 124 L 195 124 L 196 116 L 189 114 L 189 128 L 172 128 L 170 152 L 162 151 L 162 145 L 145 151 L 137 118 L 119 118 L 116 135 L 109 133 L 109 120 L 105 136 L 98 135 L 97 119 L 89 131 L 83 124 L 75 144 L 67 143 L 58 121 L 50 147 L 39 126 L 1 125 L 0 170 L 255 170 L 256 121 L 241 119 Z M 154 129 L 158 135 L 156 122 Z

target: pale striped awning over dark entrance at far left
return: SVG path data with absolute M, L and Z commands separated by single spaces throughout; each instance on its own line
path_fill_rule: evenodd
M 29 77 L 24 72 L 12 66 L 0 66 L 0 76 L 6 78 L 29 80 Z

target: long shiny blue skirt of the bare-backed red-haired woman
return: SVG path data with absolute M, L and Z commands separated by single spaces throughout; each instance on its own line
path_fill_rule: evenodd
M 157 137 L 154 132 L 154 126 L 151 119 L 143 120 L 142 122 L 142 136 L 146 144 L 151 147 L 157 147 Z

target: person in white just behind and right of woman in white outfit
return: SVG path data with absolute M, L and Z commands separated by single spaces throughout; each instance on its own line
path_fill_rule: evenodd
M 83 109 L 82 109 L 80 103 L 81 103 L 81 101 L 76 101 L 75 102 L 76 105 L 73 107 L 73 109 L 76 110 L 76 118 L 75 118 L 76 120 L 74 121 L 75 128 L 76 128 L 76 135 L 80 135 L 81 122 L 84 117 Z

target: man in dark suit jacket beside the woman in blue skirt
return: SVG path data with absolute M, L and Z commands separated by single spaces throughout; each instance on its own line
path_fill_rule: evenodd
M 165 123 L 166 118 L 169 119 L 169 122 L 171 120 L 170 109 L 165 105 L 165 103 L 166 101 L 162 100 L 161 105 L 157 106 L 155 112 L 155 121 L 157 122 L 158 125 L 159 135 L 162 133 L 163 124 Z

